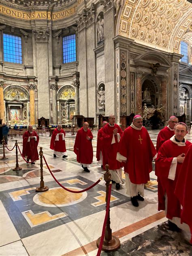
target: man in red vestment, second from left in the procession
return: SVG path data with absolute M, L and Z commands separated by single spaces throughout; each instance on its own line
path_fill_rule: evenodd
M 63 158 L 68 157 L 65 147 L 65 132 L 62 129 L 61 124 L 53 131 L 51 137 L 50 149 L 53 149 L 53 156 L 62 156 Z

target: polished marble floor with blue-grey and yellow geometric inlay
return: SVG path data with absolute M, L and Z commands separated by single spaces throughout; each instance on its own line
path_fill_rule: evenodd
M 149 131 L 156 145 L 158 130 Z M 96 161 L 97 133 L 92 141 L 94 161 L 90 173 L 85 173 L 73 152 L 75 136 L 66 135 L 68 158 L 53 158 L 49 149 L 50 137 L 41 136 L 39 147 L 54 176 L 66 188 L 82 190 L 95 183 L 104 171 Z M 11 149 L 22 138 L 9 139 Z M 192 135 L 187 135 L 192 142 Z M 105 218 L 105 181 L 94 188 L 72 194 L 60 188 L 50 175 L 45 162 L 43 173 L 47 192 L 37 193 L 40 186 L 40 162 L 26 164 L 19 155 L 20 171 L 15 167 L 15 149 L 5 151 L 6 160 L 0 160 L 0 256 L 95 256 L 96 240 L 102 232 Z M 2 147 L 0 147 L 2 157 Z M 123 178 L 125 178 L 122 172 Z M 121 241 L 116 252 L 101 255 L 192 255 L 191 245 L 182 233 L 174 233 L 166 224 L 164 211 L 157 210 L 158 183 L 154 171 L 145 188 L 145 201 L 135 208 L 125 193 L 112 186 L 111 229 Z

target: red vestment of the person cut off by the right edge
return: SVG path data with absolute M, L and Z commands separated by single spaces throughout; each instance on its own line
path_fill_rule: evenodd
M 192 197 L 191 197 L 191 183 L 192 183 L 192 144 L 188 147 L 185 160 L 182 164 L 177 184 L 175 187 L 175 195 L 179 198 L 182 205 L 181 222 L 190 226 L 192 234 Z M 192 236 L 191 241 L 192 243 Z

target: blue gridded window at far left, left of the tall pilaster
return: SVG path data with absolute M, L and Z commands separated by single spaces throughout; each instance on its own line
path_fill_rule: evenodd
M 21 37 L 3 34 L 4 61 L 22 64 Z

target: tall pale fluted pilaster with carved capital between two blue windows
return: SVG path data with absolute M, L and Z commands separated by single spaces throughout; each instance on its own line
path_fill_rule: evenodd
M 36 73 L 38 77 L 38 118 L 50 119 L 49 107 L 49 28 L 32 29 L 36 39 Z

